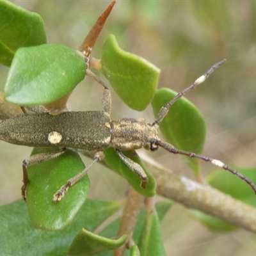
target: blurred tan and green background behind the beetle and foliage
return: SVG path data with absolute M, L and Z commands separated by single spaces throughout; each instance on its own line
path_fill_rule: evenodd
M 64 44 L 73 49 L 79 47 L 110 3 L 12 2 L 42 16 L 49 44 Z M 116 1 L 93 49 L 93 57 L 100 58 L 100 47 L 110 33 L 116 36 L 122 49 L 142 56 L 161 69 L 159 87 L 176 91 L 193 83 L 215 62 L 227 58 L 223 67 L 186 97 L 205 116 L 205 155 L 232 166 L 256 166 L 255 1 Z M 8 68 L 1 66 L 1 90 L 7 73 Z M 99 84 L 86 77 L 72 93 L 69 104 L 76 111 L 100 110 L 102 92 Z M 113 90 L 111 116 L 154 120 L 150 106 L 143 113 L 132 111 Z M 0 141 L 1 205 L 20 198 L 22 161 L 30 152 L 31 148 Z M 139 151 L 139 154 L 145 152 Z M 159 150 L 150 157 L 178 175 L 193 179 L 191 170 L 179 156 Z M 83 159 L 86 164 L 90 163 L 90 159 Z M 204 176 L 214 170 L 211 164 L 202 163 L 202 167 Z M 125 180 L 100 164 L 90 170 L 89 176 L 91 198 L 118 200 L 125 196 L 128 188 Z M 179 204 L 164 218 L 163 239 L 167 255 L 173 256 L 239 256 L 256 252 L 254 234 L 244 230 L 211 232 Z

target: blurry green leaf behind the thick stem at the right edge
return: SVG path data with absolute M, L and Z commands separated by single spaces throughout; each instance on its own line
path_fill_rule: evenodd
M 248 179 L 252 180 L 254 184 L 256 183 L 255 168 L 238 168 L 236 170 L 237 172 L 243 173 L 243 175 L 248 177 Z M 253 193 L 252 188 L 250 188 L 244 180 L 239 179 L 236 175 L 233 175 L 226 170 L 218 169 L 208 175 L 207 182 L 212 187 L 222 191 L 223 193 L 231 195 L 237 200 L 241 200 L 248 205 L 256 207 L 255 194 Z M 193 210 L 191 213 L 197 220 L 202 222 L 212 231 L 227 232 L 236 229 L 234 225 L 212 217 L 209 214 L 205 214 L 204 212 Z

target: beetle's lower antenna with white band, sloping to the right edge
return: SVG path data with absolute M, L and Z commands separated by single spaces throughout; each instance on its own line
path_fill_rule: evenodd
M 251 188 L 253 189 L 254 193 L 256 194 L 256 186 L 255 184 L 252 182 L 252 180 L 248 179 L 247 177 L 245 177 L 242 173 L 237 172 L 236 170 L 230 168 L 229 166 L 227 166 L 227 164 L 222 163 L 220 160 L 217 159 L 212 159 L 210 157 L 207 156 L 202 156 L 202 155 L 198 155 L 195 154 L 193 152 L 188 152 L 188 151 L 184 151 L 184 150 L 179 150 L 175 147 L 173 147 L 173 145 L 164 142 L 164 141 L 155 141 L 155 145 L 158 145 L 159 147 L 164 148 L 165 150 L 167 150 L 170 153 L 173 154 L 181 154 L 184 156 L 188 156 L 188 157 L 195 157 L 201 160 L 204 160 L 205 162 L 210 162 L 220 168 L 223 168 L 224 170 L 227 170 L 228 172 L 233 173 L 234 175 L 236 175 L 237 177 L 239 177 L 240 179 L 244 180 L 247 184 L 249 184 L 251 186 Z

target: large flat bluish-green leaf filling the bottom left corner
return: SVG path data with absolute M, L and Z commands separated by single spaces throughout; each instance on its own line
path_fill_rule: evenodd
M 31 225 L 23 200 L 4 205 L 0 207 L 1 255 L 66 255 L 68 246 L 82 227 L 95 230 L 120 206 L 116 202 L 88 199 L 70 226 L 58 232 L 47 232 Z

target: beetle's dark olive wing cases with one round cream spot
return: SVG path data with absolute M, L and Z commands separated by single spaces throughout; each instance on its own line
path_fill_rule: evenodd
M 103 150 L 111 138 L 109 122 L 104 111 L 18 115 L 0 122 L 0 139 L 29 147 Z

